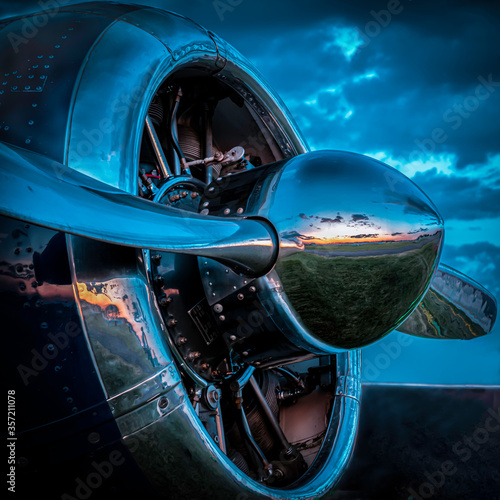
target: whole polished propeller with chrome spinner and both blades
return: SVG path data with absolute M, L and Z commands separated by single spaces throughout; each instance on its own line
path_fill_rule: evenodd
M 153 203 L 3 143 L 0 162 L 4 215 L 260 276 L 289 339 L 309 352 L 363 347 L 394 329 L 473 338 L 496 318 L 483 287 L 437 269 L 444 229 L 429 198 L 364 155 L 317 151 L 263 168 L 237 219 Z

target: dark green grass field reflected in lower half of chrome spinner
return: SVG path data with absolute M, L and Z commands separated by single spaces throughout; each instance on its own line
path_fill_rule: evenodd
M 280 261 L 276 271 L 304 325 L 333 345 L 351 348 L 394 328 L 426 288 L 435 257 L 432 242 L 373 257 L 301 252 Z

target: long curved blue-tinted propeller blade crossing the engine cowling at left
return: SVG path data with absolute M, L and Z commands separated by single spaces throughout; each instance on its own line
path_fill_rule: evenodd
M 213 258 L 250 276 L 279 251 L 264 220 L 188 213 L 121 191 L 37 153 L 0 143 L 0 213 L 119 245 Z

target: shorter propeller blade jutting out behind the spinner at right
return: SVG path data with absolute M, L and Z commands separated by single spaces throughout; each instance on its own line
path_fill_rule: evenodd
M 469 340 L 491 332 L 495 297 L 479 283 L 443 264 L 424 299 L 398 330 L 431 339 Z

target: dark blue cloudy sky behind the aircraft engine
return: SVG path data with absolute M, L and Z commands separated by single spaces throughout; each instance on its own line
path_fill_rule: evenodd
M 446 221 L 442 261 L 500 296 L 499 3 L 134 3 L 186 15 L 239 49 L 280 94 L 312 149 L 372 155 L 411 177 Z M 5 15 L 32 6 L 0 2 Z M 490 356 L 483 365 L 494 366 L 479 379 L 500 384 L 499 337 L 497 326 L 487 341 L 461 342 L 454 359 L 471 349 Z

